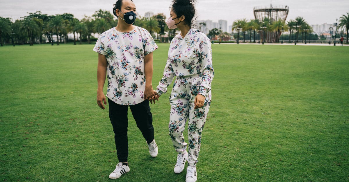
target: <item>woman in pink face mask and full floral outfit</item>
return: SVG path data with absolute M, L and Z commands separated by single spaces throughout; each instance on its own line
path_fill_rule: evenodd
M 157 86 L 157 98 L 167 91 L 174 81 L 170 96 L 171 112 L 169 130 L 173 146 L 178 152 L 175 173 L 184 169 L 188 159 L 186 181 L 196 181 L 196 163 L 200 151 L 201 132 L 211 103 L 212 67 L 209 38 L 193 27 L 194 0 L 173 0 L 170 18 L 166 21 L 170 29 L 178 28 L 180 34 L 170 44 L 164 75 Z M 183 137 L 188 120 L 188 141 Z

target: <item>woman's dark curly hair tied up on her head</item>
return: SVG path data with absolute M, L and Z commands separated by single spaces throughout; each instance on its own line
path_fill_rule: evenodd
M 176 13 L 177 17 L 185 16 L 184 24 L 194 26 L 195 16 L 195 2 L 196 0 L 172 0 L 171 9 Z

